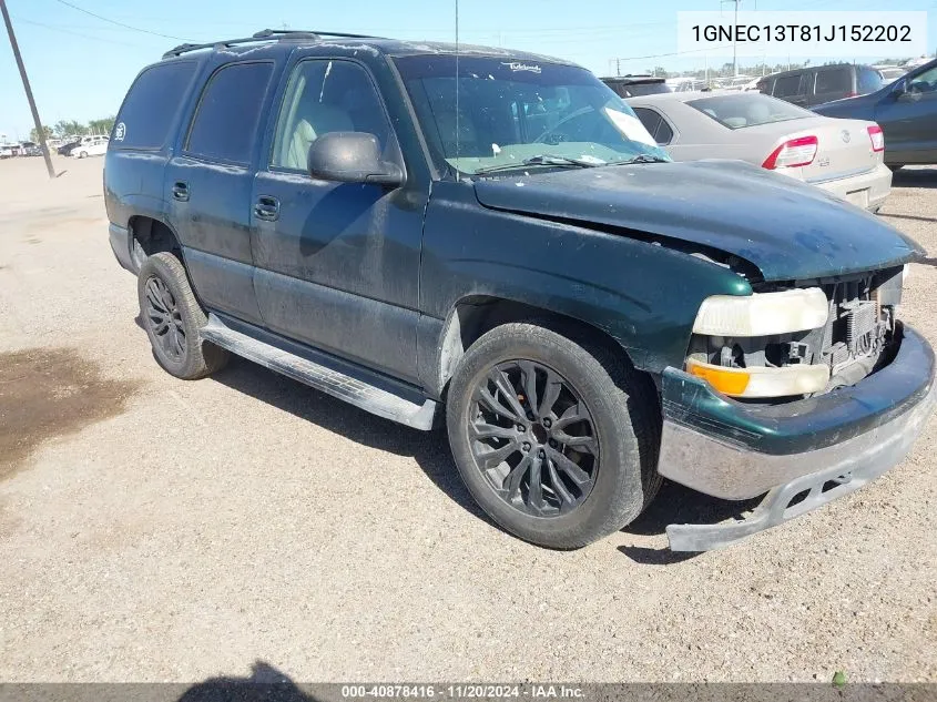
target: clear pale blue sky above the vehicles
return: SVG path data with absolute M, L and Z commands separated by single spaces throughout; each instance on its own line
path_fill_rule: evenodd
M 456 0 L 7 0 L 7 7 L 40 118 L 49 125 L 113 115 L 140 69 L 183 41 L 246 37 L 265 28 L 456 38 Z M 459 35 L 467 43 L 561 57 L 600 75 L 614 73 L 614 58 L 622 59 L 622 73 L 655 65 L 674 72 L 704 64 L 699 53 L 675 53 L 678 11 L 720 8 L 720 0 L 460 0 Z M 928 47 L 931 53 L 937 48 L 937 0 L 744 0 L 742 8 L 926 10 Z M 721 65 L 731 57 L 709 60 Z M 0 134 L 24 140 L 31 128 L 13 54 L 0 32 Z

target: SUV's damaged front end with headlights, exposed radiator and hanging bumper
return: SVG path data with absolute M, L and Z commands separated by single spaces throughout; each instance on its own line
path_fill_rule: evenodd
M 664 370 L 659 471 L 723 499 L 765 495 L 734 525 L 672 525 L 706 550 L 874 479 L 933 410 L 934 354 L 899 321 L 907 265 L 752 284 L 706 298 L 682 368 Z

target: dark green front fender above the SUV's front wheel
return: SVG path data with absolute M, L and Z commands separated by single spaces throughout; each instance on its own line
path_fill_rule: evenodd
M 682 367 L 705 297 L 751 292 L 732 271 L 665 246 L 485 208 L 468 184 L 435 184 L 427 208 L 420 308 L 436 319 L 475 295 L 515 301 L 603 330 L 659 374 Z

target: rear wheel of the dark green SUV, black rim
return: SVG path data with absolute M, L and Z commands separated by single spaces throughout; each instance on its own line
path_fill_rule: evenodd
M 170 253 L 149 256 L 136 281 L 140 318 L 156 362 L 170 374 L 195 380 L 225 366 L 228 353 L 202 342 L 208 318 L 179 258 Z

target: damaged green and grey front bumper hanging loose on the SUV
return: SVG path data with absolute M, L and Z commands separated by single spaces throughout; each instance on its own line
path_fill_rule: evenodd
M 675 368 L 663 374 L 659 472 L 729 500 L 765 498 L 747 518 L 671 525 L 670 548 L 727 546 L 847 495 L 910 450 L 937 403 L 934 352 L 896 329 L 892 363 L 851 387 L 773 406 L 745 405 Z

